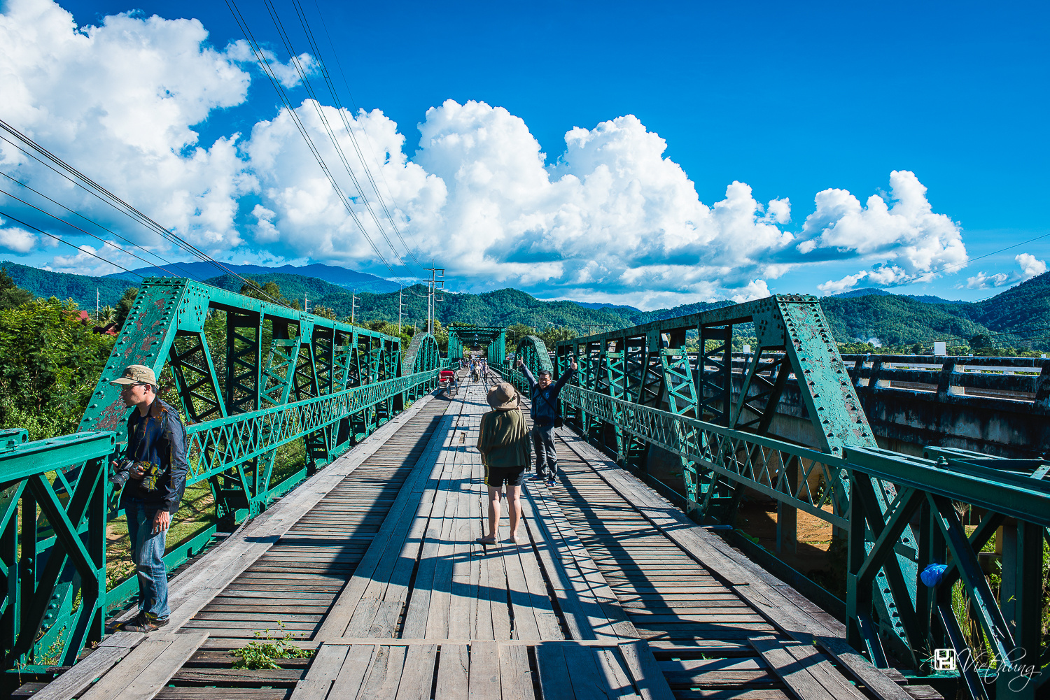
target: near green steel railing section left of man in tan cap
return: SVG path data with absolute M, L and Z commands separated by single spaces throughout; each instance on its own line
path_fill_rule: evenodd
M 71 663 L 102 638 L 111 431 L 0 434 L 0 639 L 5 667 Z M 41 642 L 44 642 L 43 644 Z

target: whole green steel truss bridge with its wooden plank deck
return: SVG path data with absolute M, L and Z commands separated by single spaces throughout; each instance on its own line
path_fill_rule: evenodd
M 738 324 L 758 338 L 742 375 Z M 525 388 L 505 364 L 503 328 L 449 331 L 449 360 L 487 344 L 490 367 Z M 484 546 L 474 444 L 499 375 L 438 389 L 448 360 L 428 335 L 402 348 L 204 284 L 149 280 L 80 431 L 0 437 L 0 637 L 18 693 L 932 700 L 1050 690 L 1050 464 L 881 448 L 816 298 L 553 348 L 530 336 L 516 357 L 555 377 L 574 359 L 579 372 L 561 394 L 558 483 L 527 482 L 519 542 L 504 519 L 501 544 Z M 106 576 L 117 515 L 106 464 L 127 416 L 108 381 L 131 363 L 177 397 L 189 481 L 207 482 L 215 515 L 169 537 L 171 623 L 148 636 L 106 633 L 136 593 L 133 579 Z M 789 386 L 808 428 L 776 434 Z M 300 439 L 304 464 L 278 473 L 277 448 Z M 681 486 L 660 483 L 671 472 Z M 776 503 L 778 551 L 795 546 L 800 511 L 828 524 L 844 585 L 820 586 L 744 537 L 744 497 Z M 998 597 L 983 553 L 996 537 Z M 934 578 L 930 565 L 943 565 Z M 238 667 L 257 658 L 243 650 L 260 636 L 309 656 Z

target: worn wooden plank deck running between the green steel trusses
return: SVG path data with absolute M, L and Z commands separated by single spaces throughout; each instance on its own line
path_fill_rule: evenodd
M 482 546 L 485 385 L 427 397 L 171 580 L 171 624 L 118 633 L 38 698 L 939 697 L 567 431 L 521 544 Z M 237 670 L 287 634 L 310 658 Z M 900 681 L 900 682 L 898 682 Z

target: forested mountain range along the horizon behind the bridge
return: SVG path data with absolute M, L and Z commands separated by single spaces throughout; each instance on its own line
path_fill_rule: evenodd
M 55 273 L 15 262 L 0 262 L 0 266 L 7 269 L 19 287 L 38 296 L 72 298 L 83 307 L 94 305 L 96 290 L 102 304 L 116 304 L 124 290 L 131 287 L 129 281 L 113 276 L 87 277 Z M 237 266 L 238 273 L 245 267 L 248 266 Z M 333 276 L 336 273 L 331 271 L 341 270 L 329 266 L 316 267 L 327 269 Z M 328 306 L 339 318 L 351 315 L 352 291 L 342 282 L 276 271 L 285 269 L 259 270 L 267 272 L 245 272 L 251 274 L 252 279 L 258 283 L 277 283 L 286 298 L 298 299 L 300 304 L 307 301 L 311 309 L 317 304 Z M 351 273 L 345 270 L 342 272 Z M 337 278 L 346 280 L 351 276 L 348 274 Z M 363 285 L 357 288 L 355 320 L 386 320 L 396 323 L 399 300 L 397 285 L 378 277 L 373 279 L 391 284 L 394 290 L 376 293 L 361 292 Z M 243 284 L 239 278 L 232 275 L 207 277 L 202 281 L 233 292 L 239 291 Z M 403 290 L 403 323 L 421 325 L 424 322 L 425 291 L 422 285 Z M 446 325 L 452 322 L 507 326 L 524 323 L 540 331 L 550 326 L 565 326 L 586 335 L 730 303 L 697 302 L 647 312 L 628 305 L 544 301 L 520 290 L 505 289 L 483 294 L 447 292 L 444 301 L 437 305 L 437 317 Z M 821 303 L 832 331 L 840 342 L 878 339 L 883 344 L 920 342 L 928 345 L 933 340 L 947 340 L 949 345 L 962 345 L 975 335 L 987 335 L 993 345 L 1030 345 L 1035 349 L 1050 349 L 1050 273 L 1017 284 L 991 299 L 973 303 L 939 297 L 896 295 L 882 290 L 858 290 L 856 293 L 824 297 Z

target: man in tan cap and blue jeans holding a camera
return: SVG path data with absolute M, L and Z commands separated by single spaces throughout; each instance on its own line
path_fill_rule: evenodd
M 186 428 L 178 411 L 158 398 L 156 376 L 149 367 L 129 365 L 109 383 L 121 386 L 121 399 L 135 409 L 128 417 L 125 458 L 113 462 L 109 479 L 123 486 L 121 505 L 139 575 L 139 614 L 120 629 L 151 632 L 168 623 L 170 612 L 164 549 L 186 489 Z

